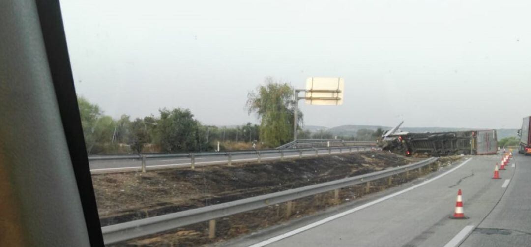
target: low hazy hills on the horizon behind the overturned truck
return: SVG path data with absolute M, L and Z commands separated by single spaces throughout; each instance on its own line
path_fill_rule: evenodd
M 315 127 L 314 129 L 307 129 L 307 126 L 305 126 L 305 130 L 310 130 L 312 132 L 319 131 L 319 130 L 326 130 L 333 135 L 342 135 L 344 137 L 355 137 L 356 132 L 358 130 L 372 130 L 376 131 L 378 128 L 381 128 L 382 130 L 390 130 L 393 127 L 389 126 L 380 126 L 380 125 L 341 125 L 337 127 L 333 127 L 330 129 L 327 129 L 323 126 L 312 126 Z M 477 130 L 477 129 L 471 129 L 471 128 L 457 128 L 457 127 L 401 127 L 400 130 L 412 132 L 412 133 L 426 133 L 426 132 L 450 132 L 450 131 L 468 131 L 468 130 Z M 498 140 L 506 137 L 516 137 L 516 129 L 499 129 L 496 130 L 496 133 L 498 133 Z

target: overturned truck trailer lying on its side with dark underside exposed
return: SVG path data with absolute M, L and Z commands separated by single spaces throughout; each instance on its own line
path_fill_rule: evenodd
M 439 133 L 391 133 L 379 141 L 383 150 L 410 156 L 426 154 L 489 155 L 498 151 L 496 130 L 473 130 Z

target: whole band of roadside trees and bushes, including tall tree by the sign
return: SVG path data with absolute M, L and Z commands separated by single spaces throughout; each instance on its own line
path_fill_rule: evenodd
M 204 125 L 185 108 L 162 108 L 157 115 L 135 119 L 125 114 L 113 118 L 82 96 L 78 105 L 88 154 L 214 151 L 218 142 L 222 151 L 274 148 L 291 141 L 293 93 L 289 83 L 272 78 L 249 92 L 246 107 L 260 125 Z M 299 113 L 299 123 L 302 119 Z

